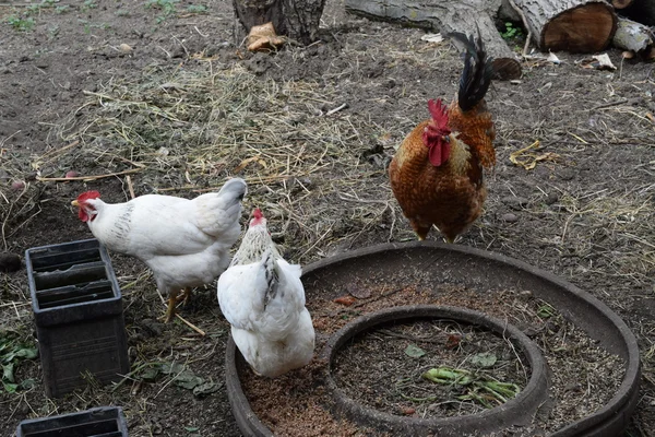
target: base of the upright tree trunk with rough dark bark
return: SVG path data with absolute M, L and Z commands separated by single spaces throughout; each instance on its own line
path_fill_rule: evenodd
M 272 22 L 277 35 L 307 45 L 317 39 L 325 0 L 233 0 L 233 4 L 247 33 Z

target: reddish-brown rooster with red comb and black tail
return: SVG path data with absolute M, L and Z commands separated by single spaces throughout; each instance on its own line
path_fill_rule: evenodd
M 431 120 L 403 140 L 389 167 L 391 188 L 422 240 L 436 225 L 449 243 L 480 215 L 483 166 L 496 164 L 496 132 L 485 94 L 493 73 L 481 37 L 451 34 L 466 47 L 457 98 L 429 101 Z

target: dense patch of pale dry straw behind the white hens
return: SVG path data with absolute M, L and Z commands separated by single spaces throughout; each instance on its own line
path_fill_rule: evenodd
M 134 173 L 136 196 L 191 197 L 240 176 L 248 205 L 267 212 L 275 236 L 293 236 L 282 243 L 300 262 L 381 222 L 392 236 L 396 211 L 384 172 L 365 165 L 378 131 L 364 116 L 334 113 L 342 105 L 335 87 L 203 66 L 155 69 L 143 82 L 87 92 L 58 129 L 69 145 L 34 158 L 39 179 L 58 181 L 69 169 L 87 181 Z

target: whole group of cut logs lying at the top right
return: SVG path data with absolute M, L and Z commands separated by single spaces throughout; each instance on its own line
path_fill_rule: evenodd
M 479 28 L 490 55 L 502 62 L 519 63 L 519 55 L 497 29 L 504 22 L 525 28 L 524 56 L 528 45 L 544 52 L 572 54 L 615 46 L 624 50 L 626 58 L 655 58 L 652 0 L 345 0 L 345 7 L 357 15 L 444 34 Z

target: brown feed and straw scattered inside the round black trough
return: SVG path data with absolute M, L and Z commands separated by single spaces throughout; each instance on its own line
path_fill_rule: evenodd
M 308 293 L 321 296 L 318 290 Z M 357 293 L 368 297 L 345 299 L 343 297 L 346 296 L 343 296 L 337 302 L 308 298 L 317 330 L 318 352 L 330 335 L 356 317 L 408 303 L 466 307 L 508 320 L 523 330 L 537 343 L 552 373 L 549 389 L 552 403 L 544 414 L 537 414 L 532 425 L 516 429 L 521 435 L 537 430 L 552 433 L 594 413 L 611 399 L 623 377 L 624 362 L 620 357 L 599 347 L 583 330 L 567 321 L 547 303 L 535 298 L 529 291 L 474 291 L 452 285 L 440 285 L 429 291 L 417 286 L 389 288 L 379 284 L 360 284 Z M 353 297 L 352 294 L 348 297 Z M 345 302 L 350 305 L 344 305 Z M 430 346 L 427 343 L 431 342 L 419 340 L 439 335 L 441 340 Z M 457 344 L 453 345 L 453 342 Z M 524 367 L 525 361 L 503 339 L 488 331 L 445 321 L 372 331 L 340 352 L 333 374 L 352 399 L 390 414 L 457 416 L 479 413 L 501 403 L 496 397 L 491 402 L 488 402 L 489 399 L 481 401 L 476 398 L 475 391 L 463 387 L 452 389 L 451 385 L 449 390 L 426 382 L 417 383 L 425 368 L 419 368 L 417 358 L 410 355 L 419 355 L 419 351 L 432 355 L 431 367 L 440 368 L 440 371 L 449 367 L 460 373 L 471 371 L 475 367 L 471 359 L 485 359 L 485 353 L 488 353 L 500 363 L 488 369 L 490 378 L 480 379 L 480 383 L 497 380 L 511 391 L 520 390 L 529 377 L 529 368 Z M 241 369 L 243 391 L 253 411 L 275 435 L 376 434 L 332 417 L 329 412 L 332 400 L 321 376 L 325 365 L 314 358 L 307 368 L 278 379 L 259 378 L 250 369 Z

